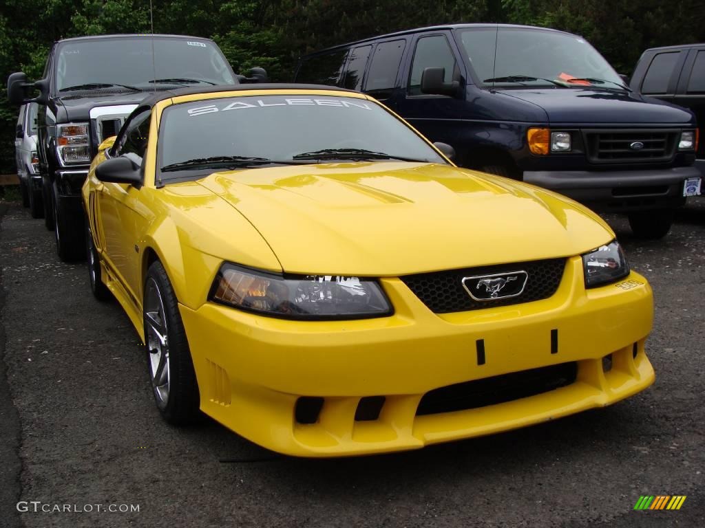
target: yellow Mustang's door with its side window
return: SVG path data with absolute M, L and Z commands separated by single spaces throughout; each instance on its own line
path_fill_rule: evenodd
M 149 108 L 131 116 L 121 130 L 111 157 L 127 156 L 141 165 L 147 148 L 151 111 Z M 99 191 L 104 256 L 118 272 L 123 287 L 140 306 L 141 260 L 140 240 L 145 231 L 149 211 L 140 201 L 140 189 L 135 185 L 103 182 Z

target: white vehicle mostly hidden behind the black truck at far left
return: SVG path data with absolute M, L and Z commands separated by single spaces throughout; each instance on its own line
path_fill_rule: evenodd
M 15 134 L 15 161 L 23 206 L 30 208 L 32 218 L 43 218 L 42 176 L 39 175 L 37 158 L 37 108 L 37 103 L 20 106 Z

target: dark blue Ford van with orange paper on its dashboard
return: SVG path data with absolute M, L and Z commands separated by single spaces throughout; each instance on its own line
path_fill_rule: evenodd
M 639 237 L 666 235 L 700 187 L 694 115 L 632 92 L 574 34 L 424 27 L 304 56 L 296 82 L 361 90 L 453 146 L 462 167 L 625 212 Z

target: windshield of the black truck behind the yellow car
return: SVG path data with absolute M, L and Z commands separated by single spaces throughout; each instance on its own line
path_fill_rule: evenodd
M 144 36 L 62 42 L 56 49 L 54 82 L 57 91 L 71 92 L 233 84 L 235 80 L 221 51 L 209 40 Z

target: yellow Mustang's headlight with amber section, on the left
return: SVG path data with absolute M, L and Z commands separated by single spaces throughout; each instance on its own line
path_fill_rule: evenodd
M 278 275 L 224 263 L 209 300 L 288 319 L 359 319 L 391 315 L 374 279 L 336 275 Z

